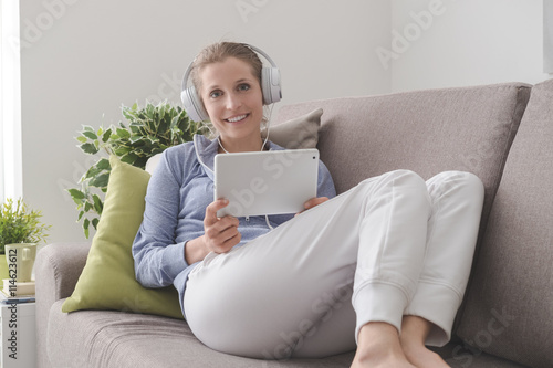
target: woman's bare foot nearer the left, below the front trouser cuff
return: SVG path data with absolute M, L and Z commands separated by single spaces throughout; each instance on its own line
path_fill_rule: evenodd
M 371 322 L 363 326 L 357 338 L 352 368 L 416 368 L 404 355 L 396 327 Z

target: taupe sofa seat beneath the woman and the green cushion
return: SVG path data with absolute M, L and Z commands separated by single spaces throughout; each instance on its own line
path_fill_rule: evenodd
M 325 359 L 260 361 L 212 350 L 182 319 L 116 311 L 62 313 L 55 302 L 48 324 L 46 351 L 52 367 L 349 367 L 353 353 Z

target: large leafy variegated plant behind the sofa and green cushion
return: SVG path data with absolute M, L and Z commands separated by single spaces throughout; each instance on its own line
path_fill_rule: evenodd
M 170 146 L 191 140 L 195 134 L 207 132 L 205 125 L 190 120 L 180 106 L 173 106 L 168 102 L 157 105 L 146 103 L 144 107 L 137 104 L 122 106 L 122 114 L 126 124 L 119 122 L 118 126 L 101 126 L 97 129 L 83 126 L 76 137 L 81 150 L 96 156 L 95 162 L 81 177 L 80 188 L 67 189 L 76 203 L 77 221 L 82 221 L 86 238 L 90 225 L 96 229 L 102 215 L 103 198 L 112 169 L 109 155 L 144 169 L 152 156 Z

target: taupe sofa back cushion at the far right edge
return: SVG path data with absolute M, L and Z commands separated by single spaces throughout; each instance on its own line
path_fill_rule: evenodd
M 474 264 L 458 334 L 553 367 L 553 80 L 532 88 Z

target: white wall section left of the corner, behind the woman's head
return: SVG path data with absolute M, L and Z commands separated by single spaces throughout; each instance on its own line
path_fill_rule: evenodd
M 373 52 L 389 43 L 386 0 L 21 0 L 20 19 L 23 194 L 53 242 L 84 239 L 65 192 L 92 162 L 75 147 L 81 125 L 116 124 L 121 104 L 147 97 L 178 102 L 207 43 L 270 54 L 281 104 L 390 91 Z

